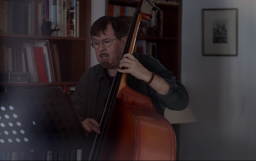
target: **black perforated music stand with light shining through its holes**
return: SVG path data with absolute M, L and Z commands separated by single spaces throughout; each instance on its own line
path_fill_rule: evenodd
M 61 89 L 0 93 L 0 152 L 84 149 L 85 137 Z

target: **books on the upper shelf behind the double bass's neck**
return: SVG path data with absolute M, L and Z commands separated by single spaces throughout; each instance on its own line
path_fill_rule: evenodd
M 109 15 L 123 18 L 127 24 L 130 24 L 136 11 L 136 7 L 122 6 L 122 5 L 109 5 Z M 139 26 L 138 36 L 163 36 L 163 11 L 152 11 L 152 18 L 150 21 L 142 20 Z

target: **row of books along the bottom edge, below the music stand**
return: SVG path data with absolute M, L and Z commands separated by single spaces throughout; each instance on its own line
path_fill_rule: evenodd
M 48 150 L 39 152 L 0 152 L 0 161 L 81 161 L 82 150 Z

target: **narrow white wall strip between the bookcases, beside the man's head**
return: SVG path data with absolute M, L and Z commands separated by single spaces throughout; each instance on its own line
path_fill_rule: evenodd
M 100 18 L 105 15 L 105 6 L 106 0 L 91 0 L 91 25 Z M 95 50 L 91 47 L 91 67 L 98 64 L 98 60 L 95 56 Z

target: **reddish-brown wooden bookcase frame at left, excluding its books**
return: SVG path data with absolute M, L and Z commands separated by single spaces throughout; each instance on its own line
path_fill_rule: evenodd
M 31 2 L 33 0 L 19 1 Z M 33 88 L 33 86 L 61 86 L 63 89 L 67 89 L 68 86 L 76 85 L 78 83 L 80 76 L 90 67 L 89 42 L 91 41 L 89 33 L 91 27 L 91 0 L 80 0 L 79 2 L 79 37 L 53 37 L 0 33 L 0 46 L 20 45 L 22 42 L 29 40 L 48 40 L 49 44 L 57 44 L 62 76 L 61 82 L 0 82 L 0 86 L 5 86 L 5 88 L 20 88 L 21 86 L 23 88 Z

